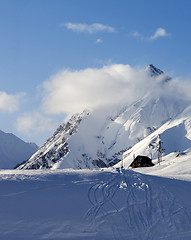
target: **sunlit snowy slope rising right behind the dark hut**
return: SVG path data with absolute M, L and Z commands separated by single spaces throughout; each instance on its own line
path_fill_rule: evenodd
M 187 158 L 191 154 L 191 108 L 186 108 L 176 120 L 162 125 L 148 137 L 134 145 L 122 156 L 122 161 L 116 167 L 128 168 L 134 156 L 152 156 L 154 162 L 158 159 L 158 142 L 162 145 L 163 159 L 175 158 L 178 154 Z M 152 155 L 151 155 L 152 154 Z

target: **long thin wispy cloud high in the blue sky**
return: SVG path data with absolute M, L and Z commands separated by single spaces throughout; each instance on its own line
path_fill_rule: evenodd
M 74 32 L 84 32 L 84 33 L 89 33 L 89 34 L 95 34 L 99 32 L 109 32 L 113 33 L 115 32 L 115 28 L 104 25 L 101 23 L 94 23 L 94 24 L 86 24 L 86 23 L 64 23 L 61 24 L 62 27 L 66 27 L 69 30 L 72 30 Z

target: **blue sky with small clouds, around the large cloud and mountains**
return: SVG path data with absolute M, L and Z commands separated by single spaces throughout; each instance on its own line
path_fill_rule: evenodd
M 41 144 L 66 116 L 41 107 L 64 69 L 153 63 L 190 79 L 190 12 L 189 0 L 0 0 L 0 129 Z

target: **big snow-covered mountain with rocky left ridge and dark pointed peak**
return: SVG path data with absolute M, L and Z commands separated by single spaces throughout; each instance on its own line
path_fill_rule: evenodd
M 116 104 L 72 116 L 19 169 L 113 166 L 135 144 L 169 121 L 179 119 L 190 102 L 165 94 L 171 78 L 163 71 L 153 65 L 145 71 L 157 82 L 160 94 L 148 90 L 131 104 Z

